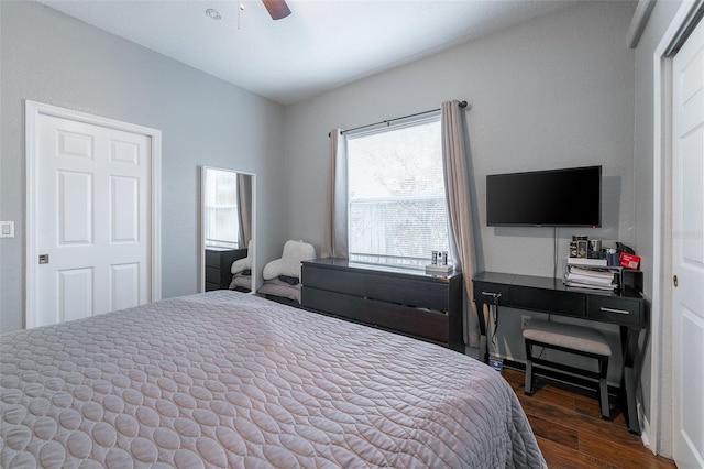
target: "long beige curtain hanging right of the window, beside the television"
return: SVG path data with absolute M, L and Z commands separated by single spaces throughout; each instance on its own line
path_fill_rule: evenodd
M 441 109 L 442 168 L 450 217 L 450 249 L 455 265 L 464 275 L 464 342 L 480 346 L 476 306 L 472 301 L 475 273 L 474 234 L 466 153 L 464 150 L 464 112 L 458 101 L 446 101 Z

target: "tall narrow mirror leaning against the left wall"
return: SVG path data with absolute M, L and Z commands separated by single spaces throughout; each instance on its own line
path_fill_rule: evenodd
M 201 292 L 256 292 L 254 183 L 254 174 L 201 168 Z

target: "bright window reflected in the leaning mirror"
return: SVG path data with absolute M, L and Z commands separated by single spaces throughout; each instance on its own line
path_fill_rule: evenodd
M 206 246 L 237 249 L 238 173 L 209 168 L 206 188 Z

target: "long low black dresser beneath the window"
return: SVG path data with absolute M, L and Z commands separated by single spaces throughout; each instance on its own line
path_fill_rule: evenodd
M 464 352 L 462 273 L 428 275 L 346 259 L 302 262 L 301 304 Z

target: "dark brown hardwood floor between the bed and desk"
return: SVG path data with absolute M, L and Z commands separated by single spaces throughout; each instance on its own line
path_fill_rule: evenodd
M 548 383 L 528 396 L 524 372 L 504 368 L 502 374 L 526 411 L 550 469 L 675 468 L 628 433 L 623 414 L 603 419 L 596 399 Z

